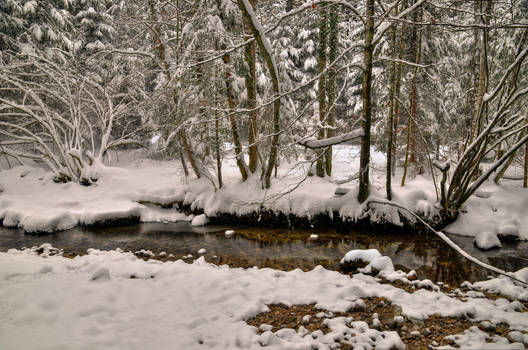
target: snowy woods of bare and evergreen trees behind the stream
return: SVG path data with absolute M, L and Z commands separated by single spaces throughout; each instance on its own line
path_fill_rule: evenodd
M 332 146 L 360 143 L 360 203 L 373 171 L 388 200 L 423 175 L 449 222 L 488 180 L 527 186 L 527 16 L 491 0 L 8 0 L 0 155 L 90 185 L 111 149 L 146 147 L 215 189 L 234 159 L 268 189 L 283 162 L 331 177 Z

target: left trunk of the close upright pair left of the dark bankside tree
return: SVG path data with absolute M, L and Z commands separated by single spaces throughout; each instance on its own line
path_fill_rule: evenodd
M 319 10 L 319 48 L 317 63 L 319 66 L 319 132 L 317 138 L 319 140 L 325 138 L 325 119 L 326 119 L 326 47 L 328 37 L 328 19 L 326 7 L 320 7 Z M 324 177 L 325 166 L 324 166 L 324 151 L 318 151 L 316 174 L 319 177 Z

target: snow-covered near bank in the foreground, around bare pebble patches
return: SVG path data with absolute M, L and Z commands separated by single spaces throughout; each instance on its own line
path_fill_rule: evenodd
M 144 261 L 122 251 L 89 250 L 74 259 L 36 249 L 0 253 L 0 345 L 2 349 L 331 349 L 348 342 L 362 349 L 404 349 L 395 331 L 374 329 L 366 320 L 334 317 L 384 297 L 404 317 L 469 317 L 474 322 L 507 324 L 509 338 L 472 327 L 453 337 L 470 348 L 523 349 L 528 344 L 528 313 L 519 301 L 490 300 L 469 291 L 464 301 L 433 291 L 408 293 L 368 275 L 352 278 L 316 267 L 283 272 L 216 266 L 203 258 Z M 392 264 L 390 264 L 392 266 Z M 391 270 L 391 269 L 388 269 Z M 397 274 L 394 271 L 388 273 Z M 526 271 L 518 277 L 526 278 Z M 417 281 L 414 281 L 417 282 Z M 498 289 L 528 300 L 525 288 L 505 278 L 470 288 Z M 259 334 L 245 320 L 268 305 L 312 304 L 327 310 L 330 332 L 284 328 Z

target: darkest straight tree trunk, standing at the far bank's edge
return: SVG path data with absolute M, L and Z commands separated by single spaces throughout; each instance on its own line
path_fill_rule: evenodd
M 369 196 L 369 166 L 370 166 L 370 125 L 372 118 L 372 53 L 374 47 L 374 0 L 365 0 L 365 47 L 363 49 L 363 136 L 361 137 L 361 154 L 359 159 L 359 192 L 358 201 L 363 203 Z

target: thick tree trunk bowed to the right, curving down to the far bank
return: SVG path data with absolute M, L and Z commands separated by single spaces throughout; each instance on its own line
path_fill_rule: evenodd
M 273 134 L 271 137 L 271 146 L 269 152 L 268 163 L 266 164 L 266 170 L 264 172 L 264 186 L 269 188 L 271 186 L 271 174 L 275 163 L 277 161 L 277 153 L 279 150 L 279 136 L 280 136 L 280 88 L 279 88 L 279 72 L 277 65 L 273 59 L 271 52 L 271 44 L 268 38 L 265 36 L 262 25 L 258 22 L 253 7 L 249 3 L 249 0 L 238 0 L 238 7 L 242 12 L 247 23 L 249 23 L 253 37 L 257 41 L 259 50 L 264 56 L 266 65 L 271 75 L 271 83 L 273 86 L 273 92 L 275 94 L 273 101 Z

